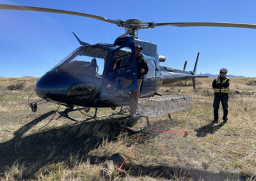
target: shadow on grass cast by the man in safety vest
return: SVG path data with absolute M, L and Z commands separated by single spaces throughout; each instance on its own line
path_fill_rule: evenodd
M 204 137 L 207 136 L 207 134 L 214 134 L 218 129 L 220 129 L 222 126 L 224 126 L 225 122 L 221 122 L 221 124 L 218 124 L 214 126 L 214 124 L 211 122 L 203 127 L 200 127 L 198 129 L 195 129 L 196 136 L 197 137 Z

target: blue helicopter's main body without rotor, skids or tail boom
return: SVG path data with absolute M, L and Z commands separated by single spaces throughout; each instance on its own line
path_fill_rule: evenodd
M 149 69 L 143 76 L 140 96 L 154 96 L 163 82 L 156 45 L 130 37 L 119 38 L 113 45 L 77 48 L 36 82 L 35 92 L 47 101 L 66 106 L 128 105 L 131 91 L 138 87 L 134 53 L 137 44 L 143 46 L 141 53 Z

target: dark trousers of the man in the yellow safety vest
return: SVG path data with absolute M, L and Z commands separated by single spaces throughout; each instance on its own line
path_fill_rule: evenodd
M 227 119 L 228 116 L 228 94 L 225 95 L 214 95 L 214 101 L 213 101 L 213 114 L 214 114 L 214 120 L 219 119 L 219 108 L 220 108 L 220 102 L 223 108 L 223 118 Z

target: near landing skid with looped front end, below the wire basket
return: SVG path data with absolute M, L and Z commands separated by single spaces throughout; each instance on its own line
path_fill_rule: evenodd
M 127 121 L 129 120 L 134 120 L 134 119 L 140 119 L 141 117 L 145 117 L 146 120 L 147 120 L 147 126 L 145 127 L 141 127 L 140 129 L 132 129 L 131 127 L 127 126 Z M 154 122 L 153 124 L 150 124 L 149 120 L 148 120 L 148 117 L 146 116 L 141 116 L 141 115 L 138 115 L 136 117 L 125 117 L 125 118 L 122 118 L 120 119 L 118 122 L 120 124 L 121 127 L 123 127 L 124 129 L 126 129 L 127 131 L 130 131 L 131 133 L 140 133 L 141 131 L 145 130 L 145 129 L 148 129 L 150 127 L 153 127 L 153 126 L 156 126 L 157 124 L 161 124 L 162 122 L 166 122 L 168 120 L 172 120 L 172 116 L 170 115 L 170 113 L 168 113 L 168 119 L 165 119 L 165 120 L 159 120 L 157 122 Z

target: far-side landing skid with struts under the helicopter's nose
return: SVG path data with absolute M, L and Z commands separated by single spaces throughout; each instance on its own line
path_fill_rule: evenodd
M 129 113 L 129 108 L 128 107 L 123 108 L 123 106 L 121 106 L 119 112 L 109 113 L 109 114 L 106 114 L 106 115 L 99 115 L 99 116 L 97 116 L 98 108 L 95 108 L 95 112 L 94 112 L 93 116 L 92 115 L 86 115 L 85 113 L 81 112 L 81 110 L 83 110 L 83 109 L 84 108 L 76 108 L 76 109 L 66 108 L 63 112 L 58 112 L 58 113 L 60 113 L 60 116 L 57 119 L 60 119 L 60 117 L 66 117 L 67 119 L 73 120 L 75 122 L 84 122 L 84 121 L 87 121 L 87 120 L 97 119 L 97 118 L 100 118 L 100 117 L 107 117 L 107 116 L 113 116 L 113 115 L 127 115 L 125 113 Z M 68 115 L 68 113 L 74 112 L 74 111 L 81 112 L 83 115 L 86 115 L 87 118 L 86 119 L 76 119 L 74 117 L 70 117 Z

